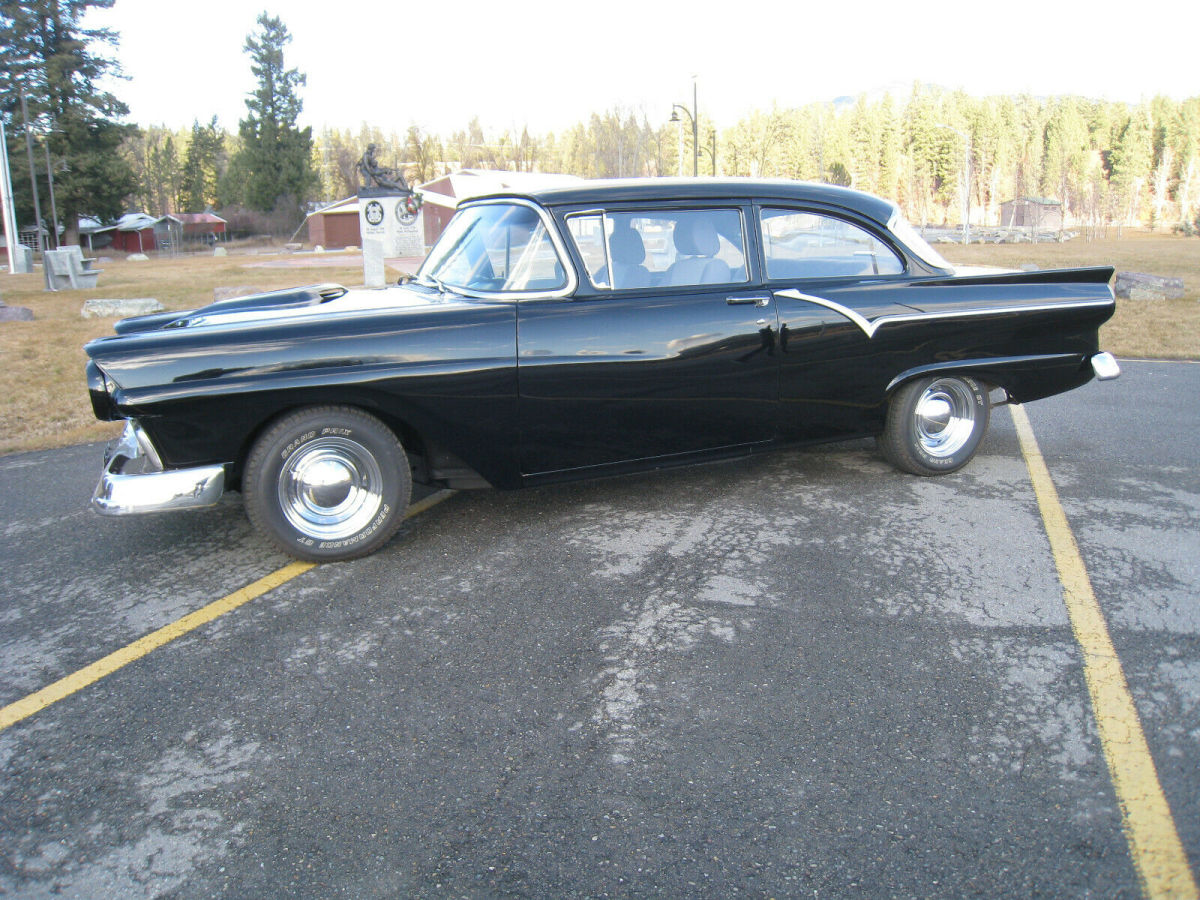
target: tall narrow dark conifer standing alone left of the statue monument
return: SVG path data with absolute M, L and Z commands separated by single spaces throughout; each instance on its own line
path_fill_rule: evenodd
M 312 164 L 312 128 L 299 128 L 304 103 L 298 95 L 306 78 L 286 68 L 283 48 L 292 41 L 282 19 L 258 17 L 259 31 L 246 37 L 242 48 L 251 58 L 258 86 L 246 98 L 248 115 L 239 122 L 241 149 L 230 168 L 251 209 L 270 212 L 299 210 L 318 187 Z

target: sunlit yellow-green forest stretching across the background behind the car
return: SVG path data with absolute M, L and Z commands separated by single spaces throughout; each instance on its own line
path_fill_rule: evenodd
M 786 178 L 847 185 L 898 202 L 923 226 L 1002 226 L 1001 204 L 1019 197 L 1062 203 L 1074 228 L 1200 228 L 1200 96 L 1136 106 L 1076 96 L 973 97 L 916 86 L 896 98 L 860 96 L 792 109 L 756 109 L 716 128 L 646 112 L 593 114 L 554 134 L 487 132 L 478 119 L 451 134 L 413 125 L 386 132 L 313 133 L 310 202 L 355 192 L 367 144 L 425 184 L 460 168 L 565 173 L 582 178 L 701 175 Z M 216 121 L 191 132 L 140 128 L 125 148 L 140 206 L 152 212 L 236 205 L 246 186 L 228 166 L 240 136 Z M 191 152 L 199 144 L 203 152 Z M 188 186 L 204 185 L 203 191 Z M 185 206 L 187 209 L 185 209 Z M 281 222 L 281 224 L 283 224 Z

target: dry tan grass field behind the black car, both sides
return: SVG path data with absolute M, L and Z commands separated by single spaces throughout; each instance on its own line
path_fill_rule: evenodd
M 1187 296 L 1177 301 L 1129 301 L 1104 326 L 1102 344 L 1118 356 L 1200 359 L 1200 239 L 1127 232 L 1121 240 L 1066 244 L 940 245 L 950 262 L 971 265 L 1040 268 L 1115 265 L 1118 270 L 1177 276 Z M 152 296 L 168 310 L 186 310 L 211 300 L 212 289 L 248 286 L 269 290 L 314 282 L 362 283 L 356 254 L 330 254 L 319 268 L 288 268 L 287 256 L 194 256 L 131 263 L 120 257 L 103 264 L 95 290 L 47 293 L 42 276 L 0 275 L 0 296 L 10 306 L 28 306 L 35 322 L 0 324 L 0 454 L 36 450 L 119 432 L 97 422 L 84 382 L 84 342 L 112 334 L 110 319 L 83 319 L 91 298 Z M 295 258 L 294 262 L 299 262 Z M 344 262 L 343 262 L 344 260 Z

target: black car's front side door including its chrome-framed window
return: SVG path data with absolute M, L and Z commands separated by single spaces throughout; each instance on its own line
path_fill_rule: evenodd
M 752 287 L 746 212 L 566 220 L 584 288 L 517 310 L 527 476 L 666 463 L 774 437 L 778 318 L 770 294 Z

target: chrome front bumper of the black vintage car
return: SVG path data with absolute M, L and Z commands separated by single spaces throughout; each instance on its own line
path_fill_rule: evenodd
M 136 470 L 127 472 L 131 468 Z M 120 439 L 104 452 L 104 470 L 91 508 L 102 516 L 131 516 L 211 506 L 222 493 L 223 466 L 166 470 L 150 437 L 128 419 Z

